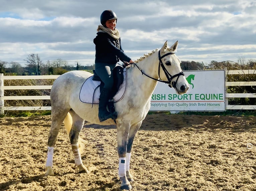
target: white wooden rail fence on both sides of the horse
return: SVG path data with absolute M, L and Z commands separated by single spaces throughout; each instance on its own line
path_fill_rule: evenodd
M 235 74 L 253 74 L 256 79 L 256 70 L 226 70 L 227 75 Z M 4 110 L 51 110 L 50 106 L 4 106 L 4 100 L 28 100 L 28 99 L 50 99 L 49 95 L 41 96 L 4 96 L 4 90 L 48 90 L 51 86 L 4 86 L 4 80 L 25 80 L 25 79 L 56 79 L 58 75 L 49 76 L 4 76 L 0 74 L 0 114 L 4 113 Z M 253 82 L 227 82 L 226 78 L 226 88 L 228 86 L 256 86 L 256 81 Z M 255 109 L 256 105 L 229 105 L 228 98 L 232 97 L 256 97 L 256 94 L 229 94 L 226 93 L 226 109 Z

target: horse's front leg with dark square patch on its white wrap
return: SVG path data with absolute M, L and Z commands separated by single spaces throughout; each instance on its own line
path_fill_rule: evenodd
M 129 134 L 130 124 L 122 121 L 122 124 L 117 125 L 117 150 L 119 156 L 119 168 L 118 175 L 121 181 L 121 190 L 126 189 L 130 190 L 132 188 L 130 182 L 126 177 L 125 170 L 125 159 L 126 159 L 126 150 L 127 150 L 127 138 Z

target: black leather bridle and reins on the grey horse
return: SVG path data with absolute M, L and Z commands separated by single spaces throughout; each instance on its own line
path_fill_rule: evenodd
M 170 52 L 170 53 L 167 53 L 167 54 L 165 54 L 165 55 L 163 55 L 163 56 L 160 56 L 160 51 L 158 52 L 158 59 L 159 59 L 159 64 L 158 64 L 158 77 L 159 77 L 159 79 L 156 79 L 156 78 L 153 78 L 153 77 L 151 77 L 151 76 L 148 76 L 147 74 L 145 74 L 145 73 L 137 66 L 136 63 L 134 63 L 134 65 L 140 70 L 140 72 L 142 73 L 142 75 L 144 74 L 144 75 L 147 76 L 148 78 L 151 78 L 151 79 L 156 80 L 156 81 L 158 81 L 158 82 L 163 82 L 163 83 L 165 83 L 165 84 L 168 84 L 168 86 L 169 86 L 170 88 L 176 89 L 176 82 L 177 82 L 179 76 L 185 76 L 185 74 L 181 71 L 180 73 L 171 76 L 170 73 L 167 71 L 167 69 L 164 67 L 164 64 L 163 64 L 163 62 L 162 62 L 162 58 L 164 58 L 164 57 L 166 57 L 166 56 L 168 56 L 168 55 L 171 55 L 171 54 L 175 54 L 175 53 L 174 53 L 174 52 Z M 131 64 L 131 63 L 130 63 L 130 64 Z M 129 65 L 130 65 L 130 64 L 129 64 Z M 162 68 L 162 70 L 163 70 L 163 72 L 164 72 L 164 74 L 165 74 L 165 76 L 166 76 L 166 78 L 167 78 L 168 81 L 161 80 L 161 78 L 160 78 L 160 66 L 161 66 L 161 68 Z M 177 77 L 177 79 L 176 79 L 176 81 L 174 82 L 172 79 L 175 78 L 175 77 Z

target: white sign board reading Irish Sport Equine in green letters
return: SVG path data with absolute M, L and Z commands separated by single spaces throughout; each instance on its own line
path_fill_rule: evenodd
M 184 71 L 186 94 L 158 82 L 151 96 L 150 111 L 225 111 L 225 71 Z

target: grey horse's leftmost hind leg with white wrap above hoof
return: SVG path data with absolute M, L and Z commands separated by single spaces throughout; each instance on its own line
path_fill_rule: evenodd
M 69 109 L 61 110 L 58 109 L 55 111 L 54 107 L 51 110 L 51 129 L 48 134 L 48 150 L 47 150 L 47 160 L 46 160 L 46 174 L 53 176 L 54 173 L 52 171 L 53 165 L 53 147 L 55 146 L 57 135 L 63 120 L 65 119 Z

